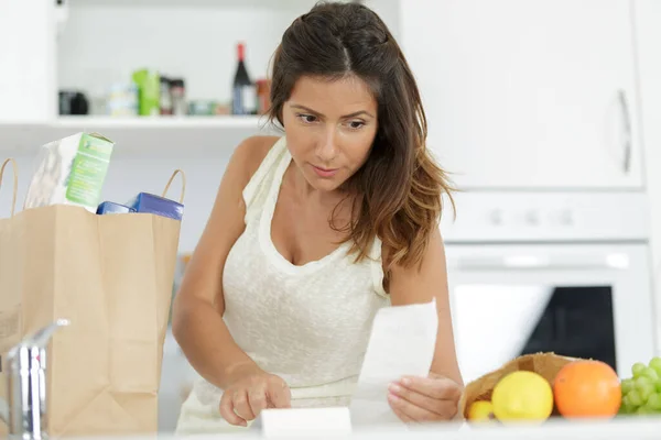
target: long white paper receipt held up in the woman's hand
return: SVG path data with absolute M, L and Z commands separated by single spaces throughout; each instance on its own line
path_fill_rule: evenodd
M 437 329 L 435 299 L 378 311 L 349 407 L 354 427 L 401 424 L 388 404 L 388 386 L 402 376 L 429 375 Z

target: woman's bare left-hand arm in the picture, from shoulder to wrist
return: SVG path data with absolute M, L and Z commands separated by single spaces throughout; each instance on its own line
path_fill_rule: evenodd
M 223 271 L 231 246 L 245 230 L 243 188 L 272 145 L 273 139 L 256 136 L 236 148 L 173 304 L 172 331 L 177 343 L 191 365 L 224 389 L 236 374 L 258 370 L 223 320 Z

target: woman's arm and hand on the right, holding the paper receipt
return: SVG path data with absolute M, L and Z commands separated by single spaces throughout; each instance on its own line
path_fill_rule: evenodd
M 460 418 L 457 404 L 464 383 L 455 351 L 445 250 L 438 229 L 432 233 L 420 266 L 392 268 L 390 297 L 393 306 L 430 302 L 435 298 L 438 312 L 430 377 L 409 377 L 408 382 L 394 384 L 391 406 L 404 421 Z

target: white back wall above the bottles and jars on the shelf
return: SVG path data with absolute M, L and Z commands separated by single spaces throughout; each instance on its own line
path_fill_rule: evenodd
M 264 77 L 282 33 L 313 4 L 73 0 L 58 41 L 58 84 L 98 96 L 147 67 L 183 77 L 191 99 L 227 101 L 237 43 L 246 43 L 251 78 Z

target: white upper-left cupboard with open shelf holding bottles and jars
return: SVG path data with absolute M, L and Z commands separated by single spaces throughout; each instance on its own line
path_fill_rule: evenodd
M 108 118 L 104 99 L 141 68 L 186 80 L 189 100 L 229 100 L 237 43 L 253 79 L 282 32 L 314 0 L 1 0 L 0 157 L 98 131 L 116 154 L 226 155 L 270 131 L 257 117 Z M 58 91 L 83 91 L 94 114 L 58 117 Z

